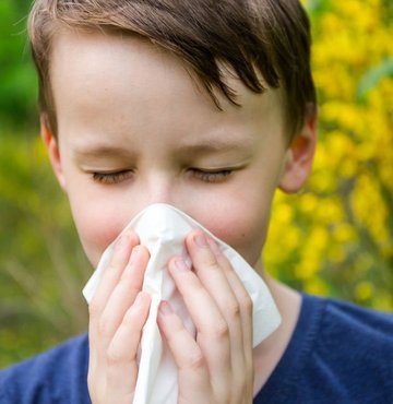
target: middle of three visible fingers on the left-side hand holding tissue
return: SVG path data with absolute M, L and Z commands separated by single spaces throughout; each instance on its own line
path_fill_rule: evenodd
M 107 346 L 119 328 L 127 310 L 142 289 L 143 276 L 148 262 L 148 251 L 143 246 L 132 249 L 130 260 L 114 288 L 99 319 L 98 331 L 102 346 Z

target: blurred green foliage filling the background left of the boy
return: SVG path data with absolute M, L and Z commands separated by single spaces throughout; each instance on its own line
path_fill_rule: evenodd
M 0 1 L 0 367 L 85 330 L 92 272 L 38 136 L 31 3 Z

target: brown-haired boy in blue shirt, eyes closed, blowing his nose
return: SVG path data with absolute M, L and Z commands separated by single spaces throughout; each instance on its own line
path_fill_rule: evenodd
M 196 341 L 167 302 L 158 325 L 179 403 L 390 403 L 392 318 L 300 295 L 260 259 L 277 187 L 297 192 L 315 147 L 307 16 L 295 0 L 37 0 L 29 35 L 41 133 L 86 254 L 165 202 L 235 248 L 283 323 L 252 349 L 251 304 L 213 240 L 186 240 L 170 275 Z M 147 250 L 116 245 L 90 332 L 4 370 L 4 403 L 131 403 L 148 312 Z M 263 319 L 261 319 L 263 321 Z

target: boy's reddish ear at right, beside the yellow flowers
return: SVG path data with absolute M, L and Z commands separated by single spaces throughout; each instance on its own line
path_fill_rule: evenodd
M 278 183 L 278 188 L 284 192 L 295 193 L 300 191 L 311 173 L 317 145 L 317 107 L 309 106 L 305 124 L 291 141 L 287 151 Z

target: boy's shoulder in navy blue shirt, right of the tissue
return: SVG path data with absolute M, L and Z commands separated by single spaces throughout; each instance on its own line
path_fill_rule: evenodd
M 255 403 L 391 403 L 392 364 L 392 314 L 303 295 L 291 341 Z

